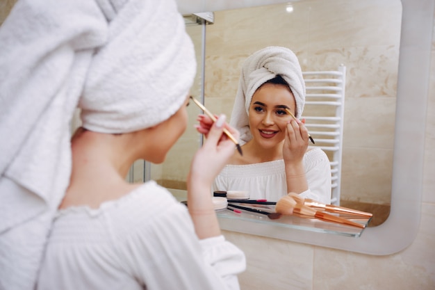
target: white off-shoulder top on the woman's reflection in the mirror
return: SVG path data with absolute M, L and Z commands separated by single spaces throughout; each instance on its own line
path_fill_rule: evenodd
M 304 168 L 309 189 L 300 193 L 331 203 L 331 163 L 327 154 L 318 147 L 304 155 Z M 284 160 L 247 165 L 227 165 L 216 177 L 212 191 L 249 191 L 251 199 L 277 201 L 287 194 Z

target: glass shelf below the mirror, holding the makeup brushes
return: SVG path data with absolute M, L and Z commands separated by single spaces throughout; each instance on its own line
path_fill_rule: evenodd
M 241 205 L 241 204 L 240 204 Z M 246 204 L 243 204 L 246 207 Z M 261 208 L 265 211 L 274 212 L 273 206 L 268 206 L 269 210 Z M 258 208 L 257 208 L 258 209 Z M 339 223 L 331 223 L 324 220 L 319 220 L 318 218 L 311 218 L 309 216 L 302 216 L 298 214 L 293 214 L 291 216 L 282 215 L 278 219 L 270 219 L 265 214 L 256 214 L 250 211 L 242 211 L 240 214 L 229 209 L 223 209 L 220 211 L 216 211 L 217 218 L 221 220 L 227 220 L 231 222 L 231 220 L 245 220 L 252 223 L 261 223 L 263 225 L 277 225 L 279 227 L 284 228 L 293 228 L 300 229 L 302 231 L 311 231 L 311 232 L 322 232 L 326 234 L 336 234 L 340 236 L 351 236 L 351 237 L 359 237 L 364 231 L 364 228 L 354 227 L 351 225 L 341 225 Z M 354 215 L 338 215 L 342 218 L 347 218 L 348 220 L 352 220 L 356 223 L 361 223 L 363 225 L 368 226 L 371 218 L 354 216 Z M 225 229 L 222 227 L 222 229 Z

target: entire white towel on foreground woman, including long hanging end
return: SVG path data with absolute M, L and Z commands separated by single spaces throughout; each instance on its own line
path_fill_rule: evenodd
M 34 289 L 76 106 L 92 131 L 158 124 L 186 99 L 195 51 L 174 0 L 18 0 L 0 43 L 0 289 Z

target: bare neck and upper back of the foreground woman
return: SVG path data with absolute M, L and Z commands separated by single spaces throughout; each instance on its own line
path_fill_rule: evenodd
M 72 140 L 72 173 L 60 208 L 87 205 L 98 208 L 102 202 L 129 193 L 133 186 L 125 182 L 131 158 L 122 148 L 121 136 L 86 131 Z

